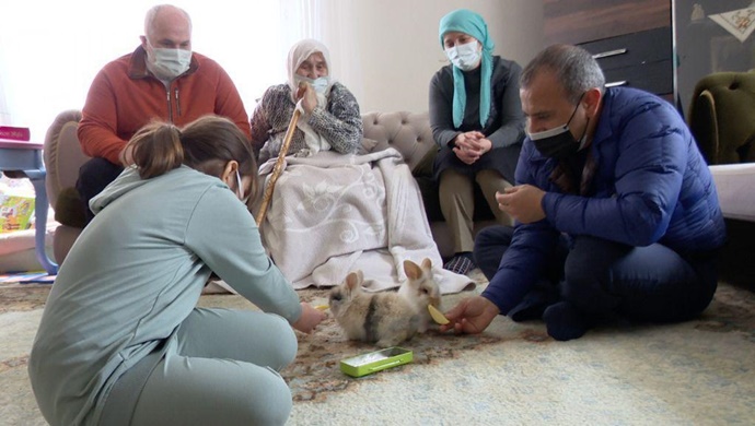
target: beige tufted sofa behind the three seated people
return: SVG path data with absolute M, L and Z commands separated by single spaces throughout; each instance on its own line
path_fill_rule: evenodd
M 81 113 L 67 110 L 58 115 L 45 139 L 45 165 L 47 167 L 47 193 L 50 204 L 56 208 L 59 197 L 71 191 L 79 174 L 79 167 L 88 159 L 81 152 L 77 139 L 77 126 Z M 453 240 L 443 222 L 438 202 L 438 191 L 431 178 L 432 161 L 437 145 L 427 113 L 369 113 L 362 115 L 364 123 L 364 145 L 368 150 L 383 150 L 388 146 L 399 151 L 411 167 L 422 191 L 426 211 L 433 238 L 443 258 L 453 256 Z M 492 213 L 481 201 L 476 209 L 475 229 L 492 224 Z M 421 214 L 422 212 L 418 212 Z M 55 230 L 53 244 L 55 259 L 61 263 L 71 245 L 81 233 L 66 220 L 67 212 L 56 209 L 56 220 L 61 223 Z

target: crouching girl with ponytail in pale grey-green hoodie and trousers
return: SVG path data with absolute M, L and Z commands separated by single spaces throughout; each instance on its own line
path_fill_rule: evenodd
M 278 371 L 292 330 L 325 315 L 300 303 L 267 257 L 243 201 L 248 140 L 230 120 L 152 123 L 61 265 L 28 375 L 51 425 L 283 424 Z M 197 308 L 216 273 L 262 311 Z

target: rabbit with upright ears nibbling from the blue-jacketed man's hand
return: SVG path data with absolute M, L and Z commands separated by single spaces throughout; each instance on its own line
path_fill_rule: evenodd
M 432 261 L 429 258 L 422 260 L 422 264 L 417 264 L 411 260 L 404 261 L 404 273 L 407 280 L 402 283 L 398 294 L 405 297 L 415 306 L 419 313 L 419 324 L 417 331 L 423 333 L 430 324 L 434 324 L 428 305 L 440 309 L 441 294 L 438 283 L 432 276 Z

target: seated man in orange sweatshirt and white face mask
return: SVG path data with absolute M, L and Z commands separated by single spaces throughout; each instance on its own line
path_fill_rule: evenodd
M 149 10 L 141 45 L 107 63 L 92 82 L 78 135 L 92 157 L 79 171 L 77 190 L 85 203 L 131 164 L 128 140 L 153 119 L 184 126 L 214 114 L 251 135 L 239 91 L 212 59 L 191 51 L 191 20 L 170 4 Z

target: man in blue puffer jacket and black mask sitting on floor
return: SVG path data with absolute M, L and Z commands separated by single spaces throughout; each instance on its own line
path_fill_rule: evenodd
M 695 139 L 667 102 L 605 87 L 582 48 L 556 45 L 524 69 L 527 138 L 516 186 L 498 193 L 516 220 L 475 240 L 490 280 L 442 330 L 478 333 L 499 315 L 543 318 L 556 340 L 602 321 L 678 321 L 717 285 L 725 227 Z

